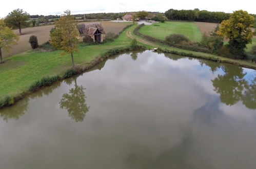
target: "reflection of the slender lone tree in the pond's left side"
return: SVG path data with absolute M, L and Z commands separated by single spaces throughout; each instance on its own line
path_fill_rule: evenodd
M 85 88 L 77 86 L 76 78 L 74 79 L 75 87 L 69 90 L 69 93 L 62 95 L 60 101 L 60 108 L 66 109 L 69 116 L 74 119 L 76 122 L 84 121 L 85 114 L 89 111 L 89 108 L 86 104 Z M 67 80 L 66 83 L 71 85 L 70 80 Z

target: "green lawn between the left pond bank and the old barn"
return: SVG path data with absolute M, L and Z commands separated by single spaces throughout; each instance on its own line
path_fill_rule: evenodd
M 86 65 L 88 61 L 101 56 L 109 49 L 129 46 L 131 39 L 126 32 L 136 25 L 125 30 L 112 43 L 78 47 L 79 52 L 74 54 L 75 64 Z M 15 96 L 35 81 L 45 76 L 62 75 L 71 68 L 71 56 L 61 55 L 62 51 L 53 52 L 26 52 L 11 56 L 5 64 L 0 65 L 0 99 L 9 95 Z

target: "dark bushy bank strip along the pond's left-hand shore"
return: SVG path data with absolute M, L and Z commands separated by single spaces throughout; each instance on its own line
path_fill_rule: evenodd
M 33 92 L 36 92 L 38 90 L 41 90 L 44 87 L 50 86 L 57 81 L 61 81 L 65 78 L 69 78 L 71 76 L 86 72 L 89 69 L 92 69 L 97 64 L 100 64 L 100 62 L 105 61 L 107 58 L 109 58 L 111 56 L 121 54 L 124 52 L 130 52 L 130 51 L 135 51 L 135 50 L 146 50 L 146 49 L 147 48 L 145 46 L 139 46 L 139 45 L 137 45 L 135 48 L 134 47 L 120 47 L 120 48 L 110 49 L 107 52 L 105 52 L 104 54 L 102 54 L 101 56 L 98 56 L 98 57 L 92 59 L 91 61 L 87 62 L 86 66 L 76 65 L 74 68 L 66 70 L 63 75 L 43 77 L 41 80 L 38 80 L 38 81 L 35 81 L 34 83 L 32 83 L 32 85 L 24 92 L 22 92 L 16 96 L 6 96 L 5 98 L 0 100 L 0 110 L 15 104 L 18 100 L 21 100 L 25 96 L 27 96 Z

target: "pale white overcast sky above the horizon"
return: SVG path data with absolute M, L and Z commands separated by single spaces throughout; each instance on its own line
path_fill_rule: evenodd
M 64 10 L 71 10 L 72 14 L 82 13 L 99 13 L 99 12 L 127 12 L 127 11 L 152 11 L 152 12 L 165 12 L 166 10 L 173 9 L 194 9 L 199 8 L 200 10 L 208 11 L 223 11 L 232 12 L 235 10 L 246 10 L 249 13 L 256 14 L 254 0 L 214 0 L 214 1 L 202 1 L 202 0 L 97 0 L 97 1 L 28 1 L 28 0 L 7 0 L 1 2 L 0 5 L 0 17 L 5 17 L 13 9 L 21 8 L 31 15 L 42 14 L 42 15 L 55 15 L 62 14 Z

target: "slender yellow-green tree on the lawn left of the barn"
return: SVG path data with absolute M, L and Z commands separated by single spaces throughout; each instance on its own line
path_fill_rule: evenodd
M 77 50 L 78 30 L 74 17 L 70 15 L 70 10 L 66 10 L 62 17 L 56 22 L 55 30 L 50 34 L 49 43 L 57 49 L 70 53 L 74 67 L 73 53 Z M 62 54 L 64 54 L 62 53 Z

